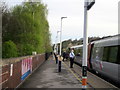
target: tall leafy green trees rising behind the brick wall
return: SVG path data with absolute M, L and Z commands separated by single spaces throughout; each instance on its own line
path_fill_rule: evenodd
M 19 56 L 50 52 L 51 35 L 47 21 L 47 6 L 41 2 L 24 2 L 4 12 L 3 43 L 13 41 Z

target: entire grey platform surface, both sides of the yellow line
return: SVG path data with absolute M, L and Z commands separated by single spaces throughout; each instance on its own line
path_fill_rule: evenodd
M 69 68 L 69 61 L 62 62 L 61 72 L 58 72 L 58 64 L 51 56 L 38 69 L 31 74 L 19 88 L 82 88 L 81 67 L 74 64 Z M 87 88 L 114 89 L 114 85 L 88 72 Z

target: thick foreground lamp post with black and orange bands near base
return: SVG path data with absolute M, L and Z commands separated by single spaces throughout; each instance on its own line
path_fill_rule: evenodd
M 88 36 L 87 36 L 87 11 L 94 5 L 95 0 L 85 0 L 84 2 L 84 39 L 83 39 L 83 61 L 82 61 L 82 88 L 87 87 L 87 51 L 88 51 Z

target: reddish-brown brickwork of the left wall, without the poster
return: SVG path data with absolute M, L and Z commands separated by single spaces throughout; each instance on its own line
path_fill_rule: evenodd
M 32 71 L 34 71 L 44 61 L 45 54 L 32 56 Z M 11 64 L 13 64 L 12 76 L 10 76 Z M 15 63 L 6 64 L 2 66 L 2 69 L 0 70 L 2 70 L 2 74 L 0 74 L 0 86 L 3 89 L 16 88 L 22 82 L 21 80 L 22 60 L 19 60 L 18 62 Z

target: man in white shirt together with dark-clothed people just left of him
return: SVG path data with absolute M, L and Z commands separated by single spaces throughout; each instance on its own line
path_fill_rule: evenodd
M 74 63 L 74 58 L 75 58 L 75 54 L 74 54 L 74 50 L 71 49 L 70 53 L 66 53 L 65 51 L 63 52 L 63 61 L 66 59 L 70 59 L 70 68 L 73 68 L 73 63 Z

